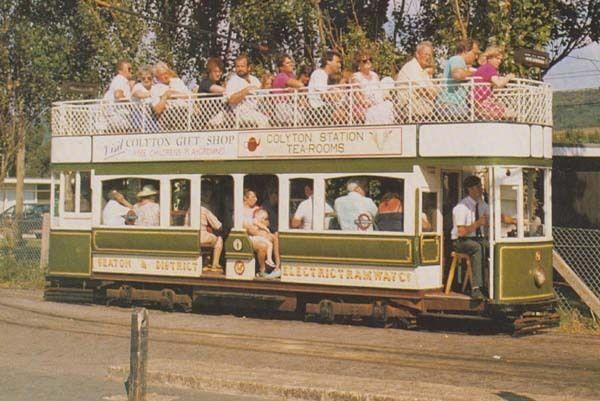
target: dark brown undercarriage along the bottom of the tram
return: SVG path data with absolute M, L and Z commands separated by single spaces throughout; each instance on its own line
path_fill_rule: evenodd
M 454 321 L 457 324 L 453 327 L 460 330 L 468 330 L 472 322 L 478 322 L 488 323 L 488 328 L 494 331 L 513 335 L 536 333 L 559 323 L 554 299 L 511 305 L 436 290 L 324 288 L 262 281 L 240 286 L 218 279 L 190 283 L 177 278 L 109 278 L 49 278 L 44 299 L 67 303 L 146 305 L 165 311 L 275 315 L 322 323 L 357 322 L 402 329 L 417 328 L 424 319 Z

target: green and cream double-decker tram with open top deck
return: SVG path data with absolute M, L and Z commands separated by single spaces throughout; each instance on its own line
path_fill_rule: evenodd
M 160 117 L 56 103 L 46 299 L 553 323 L 551 90 L 512 81 L 490 115 L 478 85 L 448 105 L 428 93 L 444 82 L 396 82 L 380 120 L 348 86 L 191 96 Z M 489 208 L 483 299 L 451 235 L 468 176 Z

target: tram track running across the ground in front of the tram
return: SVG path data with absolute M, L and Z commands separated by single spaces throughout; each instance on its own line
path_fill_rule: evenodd
M 0 322 L 39 330 L 54 330 L 80 335 L 110 336 L 129 338 L 129 325 L 120 322 L 107 322 L 91 318 L 73 317 L 52 312 L 42 312 L 32 308 L 12 305 L 0 301 L 1 309 L 12 310 L 23 314 L 31 314 L 45 321 L 14 321 L 0 313 Z M 0 312 L 1 312 L 0 309 Z M 14 313 L 14 312 L 13 312 Z M 23 319 L 22 319 L 23 320 Z M 48 322 L 50 320 L 50 322 Z M 79 327 L 65 327 L 65 321 Z M 57 324 L 58 323 L 58 324 Z M 86 327 L 91 325 L 91 328 Z M 374 364 L 389 368 L 444 369 L 465 374 L 511 377 L 522 381 L 523 371 L 534 375 L 536 380 L 553 383 L 556 377 L 562 377 L 565 385 L 579 386 L 589 380 L 590 375 L 600 374 L 598 369 L 581 366 L 557 366 L 552 363 L 540 363 L 524 358 L 510 361 L 491 361 L 473 354 L 455 352 L 436 352 L 427 354 L 426 350 L 416 352 L 402 346 L 371 346 L 365 344 L 340 343 L 324 340 L 282 339 L 274 336 L 257 336 L 252 334 L 224 333 L 214 330 L 198 330 L 185 328 L 165 328 L 152 326 L 150 341 L 165 344 L 217 347 L 232 351 L 270 353 L 283 357 L 321 358 L 327 361 Z M 570 374 L 565 375 L 565 371 Z

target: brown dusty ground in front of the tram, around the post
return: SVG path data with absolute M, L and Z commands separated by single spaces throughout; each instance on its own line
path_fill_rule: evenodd
M 0 368 L 9 372 L 0 376 L 8 389 L 0 399 L 123 397 L 130 315 L 0 290 Z M 151 310 L 149 348 L 156 400 L 600 399 L 598 337 L 515 339 Z

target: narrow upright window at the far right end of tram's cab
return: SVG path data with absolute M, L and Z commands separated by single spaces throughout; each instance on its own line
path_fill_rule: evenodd
M 523 169 L 523 224 L 525 237 L 542 237 L 544 230 L 544 170 Z

